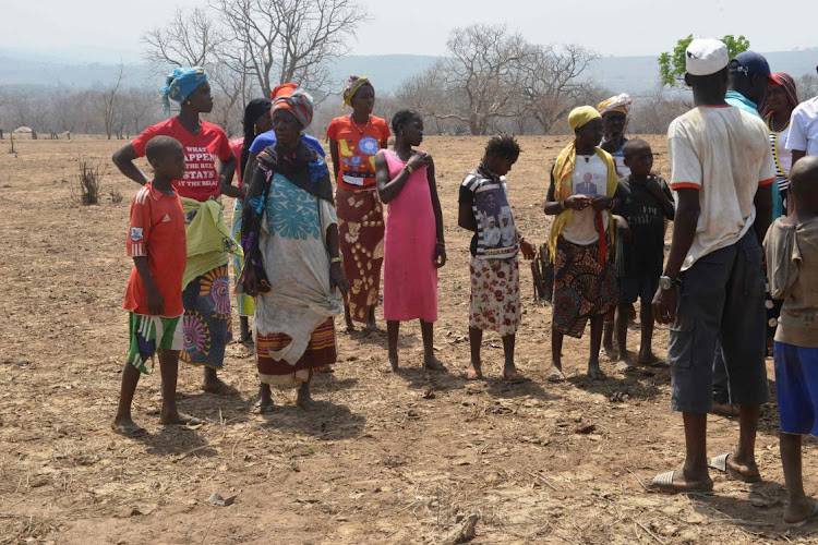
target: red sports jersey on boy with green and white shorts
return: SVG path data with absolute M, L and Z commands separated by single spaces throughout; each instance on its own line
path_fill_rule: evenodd
M 182 277 L 188 264 L 188 241 L 184 235 L 184 211 L 179 195 L 166 195 L 146 183 L 131 203 L 131 226 L 128 233 L 129 257 L 147 257 L 147 266 L 156 288 L 165 300 L 165 317 L 184 313 Z M 147 292 L 136 267 L 125 290 L 122 305 L 136 314 L 151 314 Z

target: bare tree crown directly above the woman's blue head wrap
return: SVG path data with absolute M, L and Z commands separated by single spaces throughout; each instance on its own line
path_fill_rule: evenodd
M 215 61 L 226 38 L 208 13 L 200 8 L 177 9 L 165 27 L 142 36 L 145 57 L 155 66 L 205 66 Z

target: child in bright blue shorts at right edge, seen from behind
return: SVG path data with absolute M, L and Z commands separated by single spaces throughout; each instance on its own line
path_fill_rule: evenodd
M 818 436 L 818 157 L 795 164 L 790 195 L 794 210 L 772 223 L 765 251 L 770 293 L 784 300 L 773 349 L 784 522 L 801 526 L 818 517 L 818 504 L 804 494 L 801 469 L 801 436 Z

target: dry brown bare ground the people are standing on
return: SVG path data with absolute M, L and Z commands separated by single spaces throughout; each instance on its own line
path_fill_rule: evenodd
M 651 137 L 667 175 L 664 138 Z M 521 137 L 509 174 L 520 230 L 542 242 L 548 168 L 564 138 Z M 669 409 L 666 367 L 603 364 L 585 377 L 588 338 L 566 339 L 568 380 L 545 382 L 551 311 L 532 300 L 522 267 L 517 362 L 533 380 L 498 379 L 502 348 L 484 339 L 482 383 L 466 382 L 468 240 L 457 228 L 457 189 L 483 138 L 429 138 L 436 158 L 449 263 L 441 271 L 438 356 L 448 374 L 421 371 L 420 330 L 405 326 L 402 367 L 385 371 L 383 329 L 339 334 L 336 373 L 317 378 L 318 411 L 279 392 L 279 408 L 252 413 L 252 354 L 228 347 L 233 396 L 199 389 L 181 371 L 179 400 L 208 424 L 163 427 L 158 376 L 137 389 L 134 417 L 149 435 L 113 435 L 127 351 L 122 294 L 128 209 L 136 185 L 115 173 L 103 203 L 81 206 L 80 158 L 109 165 L 103 140 L 0 143 L 0 543 L 442 543 L 479 516 L 474 543 L 809 542 L 818 525 L 784 528 L 778 416 L 758 437 L 765 482 L 714 475 L 712 496 L 647 494 L 639 480 L 678 469 L 684 437 Z M 109 192 L 124 199 L 113 204 Z M 231 209 L 230 202 L 228 208 Z M 340 320 L 336 324 L 340 326 Z M 631 328 L 630 346 L 637 341 Z M 666 328 L 655 334 L 664 354 Z M 771 361 L 768 361 L 771 373 Z M 771 384 L 772 386 L 772 384 Z M 614 403 L 614 391 L 629 399 Z M 709 421 L 711 456 L 729 451 L 737 423 Z M 807 491 L 818 492 L 816 444 L 807 443 Z M 213 493 L 237 496 L 229 507 Z

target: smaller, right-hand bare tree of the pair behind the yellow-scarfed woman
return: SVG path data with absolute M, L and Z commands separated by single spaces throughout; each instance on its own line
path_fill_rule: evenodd
M 580 76 L 594 58 L 593 52 L 576 45 L 531 47 L 521 65 L 522 95 L 527 111 L 543 134 L 549 134 L 554 123 L 588 94 L 591 84 Z

